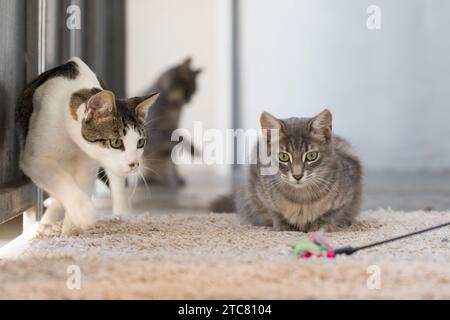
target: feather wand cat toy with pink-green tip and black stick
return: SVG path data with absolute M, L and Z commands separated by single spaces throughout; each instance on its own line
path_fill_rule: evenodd
M 346 247 L 340 247 L 333 249 L 330 245 L 330 242 L 323 234 L 323 231 L 320 230 L 319 232 L 313 232 L 309 240 L 300 240 L 297 242 L 297 244 L 293 247 L 292 252 L 296 256 L 299 256 L 300 258 L 310 258 L 310 257 L 318 257 L 318 258 L 335 258 L 339 254 L 345 254 L 345 255 L 351 255 L 357 251 L 373 248 L 376 246 L 383 245 L 388 242 L 397 241 L 400 239 L 408 238 L 411 236 L 415 236 L 421 233 L 425 233 L 428 231 L 432 231 L 435 229 L 443 228 L 446 226 L 450 226 L 450 222 L 446 222 L 443 224 L 439 224 L 430 228 L 414 231 L 411 233 L 407 233 L 401 236 L 397 236 L 394 238 L 381 240 L 377 242 L 373 242 L 367 245 L 359 246 L 359 247 L 352 247 L 352 246 L 346 246 Z

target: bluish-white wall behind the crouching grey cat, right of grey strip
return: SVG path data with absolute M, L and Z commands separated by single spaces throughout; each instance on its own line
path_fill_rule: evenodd
M 243 119 L 334 113 L 369 170 L 450 169 L 450 1 L 244 0 Z M 382 28 L 366 28 L 381 7 Z

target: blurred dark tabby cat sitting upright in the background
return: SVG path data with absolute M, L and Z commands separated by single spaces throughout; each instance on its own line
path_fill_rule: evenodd
M 185 185 L 171 159 L 172 148 L 179 143 L 171 141 L 171 135 L 178 129 L 182 107 L 196 91 L 196 79 L 200 72 L 200 69 L 191 68 L 191 59 L 188 58 L 164 72 L 149 90 L 158 90 L 160 93 L 158 101 L 149 111 L 150 120 L 146 124 L 147 145 L 144 149 L 142 172 L 149 183 L 171 188 Z M 197 155 L 198 151 L 194 146 L 189 141 L 185 142 L 183 145 L 190 146 L 190 152 Z

